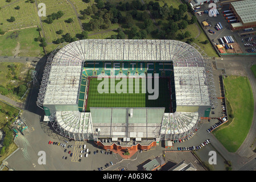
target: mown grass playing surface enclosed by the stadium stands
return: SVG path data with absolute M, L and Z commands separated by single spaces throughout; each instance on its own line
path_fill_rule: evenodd
M 148 96 L 152 95 L 147 92 L 142 92 L 143 85 L 142 79 L 146 78 L 129 78 L 133 79 L 133 93 L 129 93 L 129 81 L 127 80 L 127 93 L 110 93 L 110 82 L 114 83 L 116 88 L 118 82 L 122 80 L 111 81 L 109 78 L 108 93 L 99 93 L 98 85 L 102 80 L 97 80 L 96 77 L 90 77 L 88 100 L 86 103 L 86 111 L 90 110 L 90 107 L 165 107 L 166 111 L 170 110 L 170 89 L 168 86 L 169 78 L 159 78 L 159 96 L 156 100 L 148 100 Z M 135 93 L 135 79 L 139 79 L 139 93 Z M 154 79 L 152 79 L 154 81 Z M 154 88 L 154 82 L 152 82 L 152 88 Z M 113 85 L 112 85 L 113 86 Z M 145 86 L 145 85 L 144 85 Z M 105 89 L 102 86 L 102 89 Z M 121 86 L 122 89 L 122 86 Z M 153 93 L 154 94 L 154 93 Z

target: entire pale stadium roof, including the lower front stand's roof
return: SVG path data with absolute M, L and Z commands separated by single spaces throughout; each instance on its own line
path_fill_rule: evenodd
M 174 139 L 174 135 L 185 137 L 193 133 L 200 117 L 198 112 L 164 113 L 164 108 L 133 108 L 133 117 L 131 108 L 92 108 L 90 113 L 80 112 L 77 102 L 81 74 L 84 61 L 88 60 L 173 61 L 177 106 L 209 106 L 213 98 L 213 81 L 205 58 L 189 44 L 176 40 L 79 40 L 49 56 L 36 102 L 38 106 L 52 105 L 56 111 L 51 113 L 53 127 L 75 140 L 157 138 L 162 134 L 167 139 Z M 61 110 L 61 106 L 66 110 Z

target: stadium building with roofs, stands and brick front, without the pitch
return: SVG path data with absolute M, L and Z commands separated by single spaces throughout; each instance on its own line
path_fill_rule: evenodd
M 109 61 L 113 64 L 106 69 L 103 63 Z M 84 74 L 133 71 L 131 67 L 115 66 L 120 61 L 155 65 L 152 69 L 143 67 L 143 72 L 168 72 L 174 79 L 174 110 L 90 107 L 85 111 L 89 85 Z M 87 67 L 88 63 L 93 66 Z M 102 66 L 102 71 L 100 66 L 96 73 L 96 64 Z M 167 67 L 170 64 L 172 69 Z M 134 73 L 141 70 L 136 69 Z M 201 118 L 209 117 L 211 107 L 217 104 L 212 76 L 208 58 L 196 44 L 176 40 L 78 40 L 61 44 L 49 55 L 36 104 L 49 117 L 53 129 L 64 137 L 94 140 L 105 150 L 149 150 L 160 140 L 189 138 L 198 130 Z

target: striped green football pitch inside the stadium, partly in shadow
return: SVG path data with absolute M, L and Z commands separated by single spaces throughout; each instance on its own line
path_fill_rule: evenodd
M 155 100 L 148 99 L 148 96 L 156 94 L 148 93 L 148 78 L 127 78 L 126 82 L 122 78 L 108 78 L 108 82 L 105 82 L 108 84 L 105 85 L 102 81 L 97 77 L 89 77 L 86 111 L 90 111 L 90 107 L 165 107 L 165 111 L 171 110 L 170 78 L 159 78 L 158 89 L 154 88 L 152 78 L 151 88 L 158 92 Z M 105 93 L 101 93 L 102 90 Z

